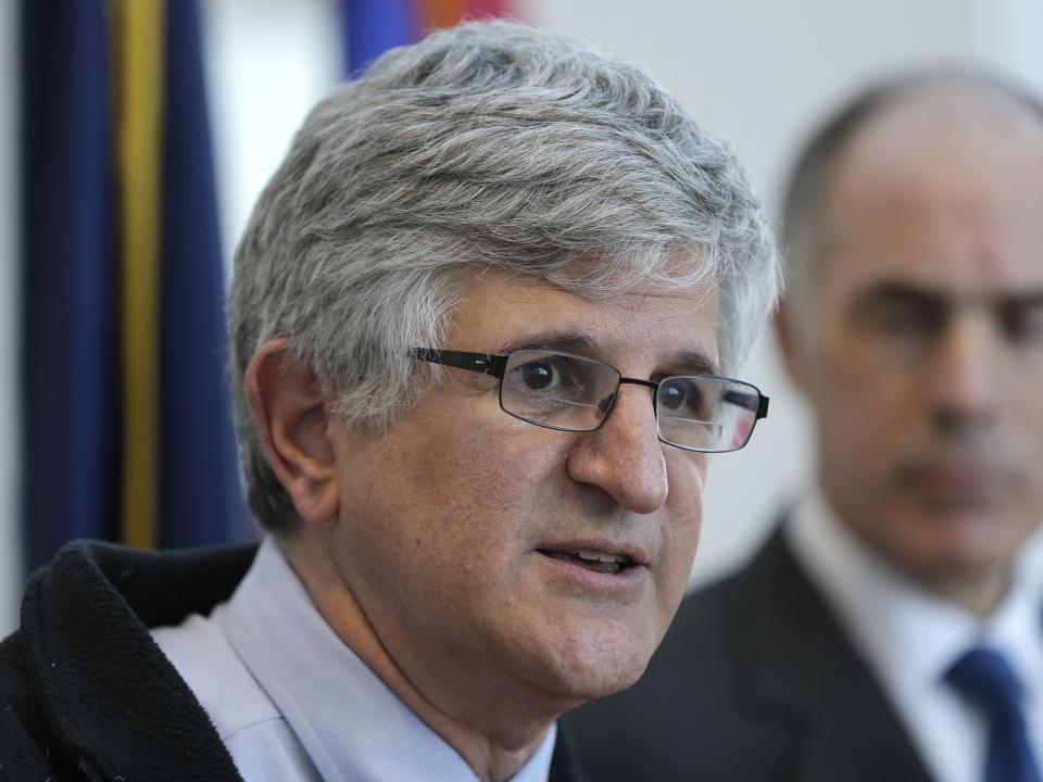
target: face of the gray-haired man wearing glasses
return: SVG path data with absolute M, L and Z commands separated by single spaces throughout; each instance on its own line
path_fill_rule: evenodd
M 716 364 L 716 306 L 715 294 L 593 303 L 487 277 L 439 346 L 562 348 L 655 379 L 698 371 L 693 354 Z M 405 670 L 557 701 L 629 685 L 684 589 L 705 455 L 656 440 L 645 388 L 623 386 L 601 429 L 563 432 L 501 411 L 494 378 L 447 373 L 385 437 L 335 433 L 342 577 Z M 579 550 L 634 565 L 608 575 L 548 554 Z

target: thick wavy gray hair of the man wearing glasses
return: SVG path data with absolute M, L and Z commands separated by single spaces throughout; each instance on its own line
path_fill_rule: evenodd
M 231 370 L 250 504 L 299 524 L 243 377 L 268 340 L 335 415 L 381 430 L 439 377 L 439 345 L 482 268 L 601 299 L 719 292 L 721 365 L 744 360 L 780 273 L 732 150 L 646 71 L 571 38 L 468 23 L 394 49 L 319 103 L 236 252 Z

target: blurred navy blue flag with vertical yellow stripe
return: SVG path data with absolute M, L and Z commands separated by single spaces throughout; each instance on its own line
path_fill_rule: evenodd
M 194 0 L 22 0 L 25 565 L 249 525 Z

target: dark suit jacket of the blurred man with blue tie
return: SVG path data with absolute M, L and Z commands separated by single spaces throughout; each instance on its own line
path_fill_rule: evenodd
M 778 530 L 681 604 L 637 685 L 566 721 L 591 782 L 930 780 Z

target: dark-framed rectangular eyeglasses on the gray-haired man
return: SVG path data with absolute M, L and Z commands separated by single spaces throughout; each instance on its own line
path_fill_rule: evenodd
M 716 375 L 641 380 L 623 377 L 603 362 L 552 350 L 486 354 L 414 348 L 412 353 L 419 361 L 500 378 L 503 412 L 548 429 L 598 429 L 623 383 L 653 390 L 659 440 L 686 451 L 738 451 L 768 415 L 768 398 L 759 389 Z

